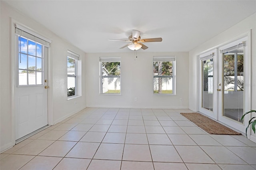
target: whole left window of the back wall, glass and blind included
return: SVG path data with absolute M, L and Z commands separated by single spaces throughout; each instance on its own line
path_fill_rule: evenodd
M 121 93 L 120 61 L 121 59 L 118 57 L 100 58 L 101 94 Z

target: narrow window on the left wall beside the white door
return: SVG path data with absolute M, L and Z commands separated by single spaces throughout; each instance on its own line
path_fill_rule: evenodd
M 77 60 L 79 55 L 68 51 L 67 57 L 67 75 L 68 75 L 68 97 L 75 96 L 76 94 L 76 78 L 77 78 Z

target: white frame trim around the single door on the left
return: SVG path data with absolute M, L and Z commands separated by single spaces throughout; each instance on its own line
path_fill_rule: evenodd
M 28 30 L 31 30 L 32 32 L 37 33 L 35 30 L 32 30 L 31 28 L 28 28 L 27 26 L 24 26 L 24 24 L 18 22 L 17 20 L 10 18 L 10 78 L 11 78 L 11 108 L 10 108 L 10 115 L 11 115 L 11 136 L 12 140 L 10 143 L 10 146 L 14 146 L 16 142 L 16 137 L 15 137 L 15 81 L 17 80 L 17 76 L 15 74 L 15 26 L 14 24 L 19 24 L 23 26 L 24 28 L 27 28 Z M 40 35 L 40 33 L 39 33 Z M 44 36 L 46 37 L 46 36 Z M 50 40 L 50 39 L 49 39 Z M 48 47 L 48 61 L 47 61 L 47 77 L 48 77 L 48 86 L 52 87 L 52 72 L 51 72 L 51 57 L 50 57 L 50 47 Z M 54 123 L 54 117 L 53 117 L 53 99 L 52 99 L 52 88 L 48 89 L 47 92 L 47 105 L 48 105 L 48 125 L 53 125 Z

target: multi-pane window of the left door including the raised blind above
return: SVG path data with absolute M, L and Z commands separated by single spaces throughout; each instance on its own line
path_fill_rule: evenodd
M 18 86 L 43 85 L 44 47 L 50 47 L 50 40 L 15 24 L 18 38 Z M 33 34 L 33 35 L 32 35 Z

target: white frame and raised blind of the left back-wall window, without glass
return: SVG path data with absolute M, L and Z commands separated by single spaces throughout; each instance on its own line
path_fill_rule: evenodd
M 102 62 L 120 62 L 120 75 L 102 75 Z M 121 95 L 121 57 L 100 57 L 100 95 Z M 102 79 L 103 78 L 119 78 L 120 93 L 103 93 Z

